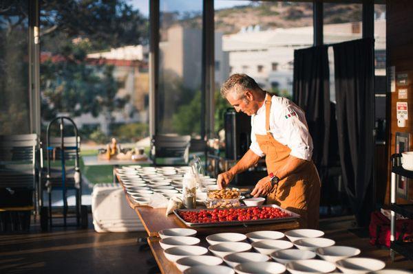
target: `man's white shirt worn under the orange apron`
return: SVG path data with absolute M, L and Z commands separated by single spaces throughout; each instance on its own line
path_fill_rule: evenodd
M 265 117 L 266 104 L 251 116 L 251 146 L 250 149 L 258 156 L 264 152 L 257 143 L 258 135 L 266 135 Z M 290 155 L 310 161 L 313 155 L 313 139 L 308 133 L 304 111 L 290 100 L 278 96 L 271 99 L 270 132 L 279 143 L 288 146 Z

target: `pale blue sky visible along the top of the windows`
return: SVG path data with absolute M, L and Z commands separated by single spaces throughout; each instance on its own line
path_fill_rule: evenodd
M 140 10 L 140 13 L 148 16 L 149 1 L 150 0 L 129 0 L 129 3 L 131 3 L 131 5 L 133 5 L 135 8 L 138 8 L 138 10 Z M 249 2 L 250 1 L 246 0 L 215 0 L 214 8 L 215 10 L 220 10 L 222 8 L 231 8 L 236 5 L 246 5 Z M 160 0 L 160 5 L 161 10 L 178 10 L 180 12 L 200 11 L 200 9 L 202 8 L 202 0 Z

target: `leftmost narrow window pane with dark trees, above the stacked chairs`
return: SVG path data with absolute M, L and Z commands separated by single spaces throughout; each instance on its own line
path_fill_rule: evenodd
M 30 133 L 29 1 L 1 1 L 0 135 Z

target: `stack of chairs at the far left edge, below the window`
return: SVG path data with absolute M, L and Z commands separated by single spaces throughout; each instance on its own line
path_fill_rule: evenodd
M 0 135 L 0 231 L 28 231 L 35 209 L 36 134 Z

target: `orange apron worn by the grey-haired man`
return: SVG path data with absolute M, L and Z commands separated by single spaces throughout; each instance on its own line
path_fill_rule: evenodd
M 290 148 L 276 141 L 270 132 L 271 95 L 266 95 L 266 135 L 258 135 L 257 142 L 266 155 L 268 173 L 276 172 L 287 164 Z M 301 216 L 301 228 L 319 225 L 320 179 L 313 161 L 306 161 L 299 172 L 280 180 L 267 195 L 266 203 L 276 204 Z

